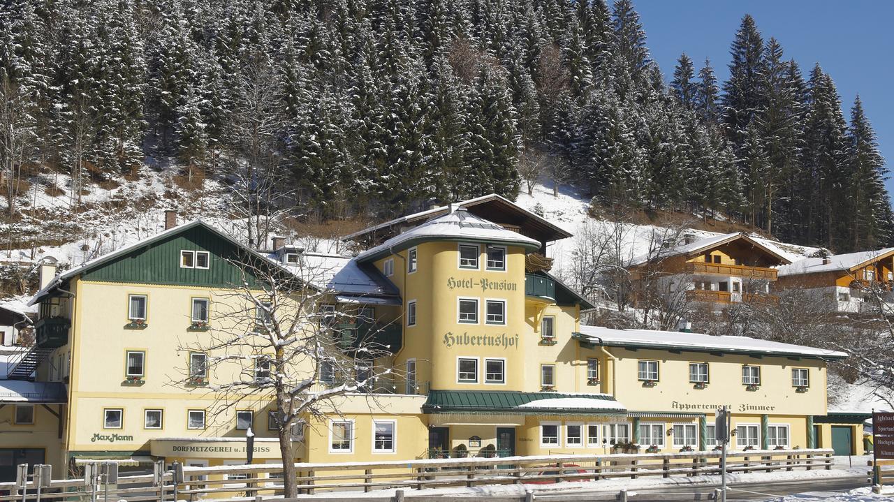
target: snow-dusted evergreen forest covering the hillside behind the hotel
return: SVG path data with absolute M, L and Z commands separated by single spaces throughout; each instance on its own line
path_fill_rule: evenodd
M 682 54 L 665 77 L 629 0 L 7 0 L 6 216 L 35 172 L 70 175 L 76 212 L 151 160 L 223 180 L 234 213 L 385 218 L 540 177 L 608 213 L 890 245 L 859 99 L 846 117 L 748 15 L 730 39 L 730 62 Z

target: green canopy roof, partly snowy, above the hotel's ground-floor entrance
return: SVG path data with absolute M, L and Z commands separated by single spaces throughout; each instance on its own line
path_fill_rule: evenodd
M 561 400 L 568 400 L 567 407 L 558 407 Z M 544 401 L 544 406 L 537 406 Z M 592 403 L 588 403 L 592 401 Z M 546 406 L 549 405 L 549 406 Z M 586 405 L 586 406 L 584 406 Z M 520 392 L 514 390 L 431 390 L 425 413 L 577 413 L 623 414 L 626 412 L 614 397 L 608 394 L 563 394 L 560 392 Z

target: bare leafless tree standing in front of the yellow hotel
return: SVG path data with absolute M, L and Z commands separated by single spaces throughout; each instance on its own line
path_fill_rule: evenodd
M 333 291 L 314 286 L 326 272 L 299 266 L 286 270 L 258 255 L 233 263 L 241 283 L 215 297 L 214 326 L 181 339 L 190 353 L 174 385 L 213 395 L 209 414 L 230 414 L 240 403 L 271 403 L 283 459 L 286 498 L 297 495 L 294 427 L 337 414 L 338 399 L 375 404 L 376 379 L 393 375 L 383 324 L 361 311 L 321 309 Z M 399 321 L 398 321 L 399 322 Z M 364 326 L 367 329 L 362 329 Z

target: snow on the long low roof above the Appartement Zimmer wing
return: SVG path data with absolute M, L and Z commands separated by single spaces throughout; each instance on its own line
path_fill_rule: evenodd
M 749 337 L 714 337 L 681 331 L 615 330 L 602 326 L 581 326 L 576 336 L 578 339 L 606 347 L 645 347 L 817 359 L 843 359 L 848 356 L 845 352 L 824 348 L 805 347 Z

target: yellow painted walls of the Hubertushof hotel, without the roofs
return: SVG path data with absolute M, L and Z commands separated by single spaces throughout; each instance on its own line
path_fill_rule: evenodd
M 753 441 L 743 442 L 743 448 L 766 446 L 770 433 L 776 444 L 809 446 L 814 415 L 826 414 L 822 359 L 586 343 L 576 335 L 586 300 L 549 274 L 526 272 L 526 254 L 534 248 L 530 239 L 496 232 L 468 239 L 427 237 L 356 258 L 375 266 L 400 297 L 401 305 L 368 305 L 377 319 L 399 323 L 402 330 L 401 349 L 379 364 L 410 374 L 391 392 L 340 397 L 325 418 L 310 419 L 295 438 L 296 461 L 492 455 L 489 449 L 499 450 L 493 455 L 593 453 L 615 443 L 654 445 L 659 451 L 710 449 L 705 428 L 719 406 L 730 406 L 734 429 L 741 426 L 742 437 Z M 494 235 L 498 238 L 489 240 Z M 544 289 L 536 289 L 535 282 Z M 215 399 L 204 387 L 187 387 L 182 380 L 190 364 L 182 347 L 209 332 L 189 330 L 192 300 L 208 299 L 214 332 L 229 322 L 223 314 L 232 307 L 227 291 L 73 276 L 53 300 L 58 305 L 52 315 L 72 321 L 67 343 L 38 370 L 38 381 L 66 384 L 63 437 L 55 438 L 55 423 L 44 410 L 30 426 L 42 431 L 33 440 L 4 433 L 0 447 L 25 441 L 30 448 L 46 448 L 56 473 L 75 457 L 227 464 L 244 459 L 245 431 L 236 419 L 242 411 L 250 412 L 257 436 L 255 462 L 278 460 L 275 431 L 267 426 L 269 396 L 249 398 L 230 414 L 207 414 L 204 427 L 190 426 L 190 412 L 207 410 Z M 145 326 L 138 329 L 129 318 L 132 295 L 147 298 Z M 145 372 L 136 379 L 128 374 L 131 352 L 144 357 Z M 52 363 L 69 355 L 70 363 Z M 657 364 L 654 382 L 641 378 L 642 361 Z M 690 381 L 691 363 L 708 364 L 704 386 Z M 760 368 L 760 384 L 753 389 L 742 383 L 743 366 Z M 805 389 L 793 385 L 793 368 L 806 371 Z M 212 382 L 228 378 L 208 375 Z M 571 407 L 537 406 L 551 399 L 565 399 Z M 598 406 L 586 407 L 593 404 Z M 0 431 L 9 427 L 2 417 L 10 407 L 0 409 Z M 106 426 L 110 410 L 120 412 L 114 427 Z M 159 410 L 161 423 L 148 426 L 155 421 L 147 413 Z M 824 427 L 817 429 L 821 445 L 827 441 Z M 855 437 L 862 437 L 859 432 Z M 855 444 L 860 452 L 862 445 Z

